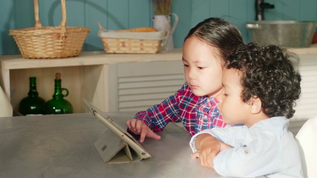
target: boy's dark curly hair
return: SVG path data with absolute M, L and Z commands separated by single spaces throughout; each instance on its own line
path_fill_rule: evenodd
M 240 45 L 229 57 L 227 68 L 242 72 L 241 97 L 247 102 L 258 96 L 269 117 L 293 117 L 295 100 L 301 93 L 296 54 L 278 45 Z

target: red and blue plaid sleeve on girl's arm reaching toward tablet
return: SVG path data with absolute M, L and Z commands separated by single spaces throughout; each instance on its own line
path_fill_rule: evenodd
M 154 132 L 162 131 L 168 122 L 181 122 L 179 114 L 179 100 L 185 84 L 174 95 L 169 96 L 160 104 L 156 104 L 146 111 L 136 113 L 135 119 L 142 120 Z

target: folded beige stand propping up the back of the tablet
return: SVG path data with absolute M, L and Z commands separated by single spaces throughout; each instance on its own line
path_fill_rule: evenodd
M 111 130 L 107 130 L 95 141 L 94 145 L 105 163 L 128 163 L 142 160 L 128 143 Z

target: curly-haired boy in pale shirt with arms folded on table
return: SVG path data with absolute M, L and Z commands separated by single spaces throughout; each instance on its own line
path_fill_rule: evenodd
M 239 46 L 223 72 L 218 110 L 226 124 L 195 134 L 192 157 L 221 176 L 303 177 L 298 146 L 287 131 L 301 77 L 276 45 Z

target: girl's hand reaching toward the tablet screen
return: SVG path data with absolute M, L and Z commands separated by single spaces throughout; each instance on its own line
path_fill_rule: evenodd
M 146 124 L 144 124 L 140 120 L 127 120 L 126 125 L 131 132 L 140 135 L 140 142 L 143 142 L 145 137 L 160 139 L 160 136 L 158 134 L 155 134 Z

